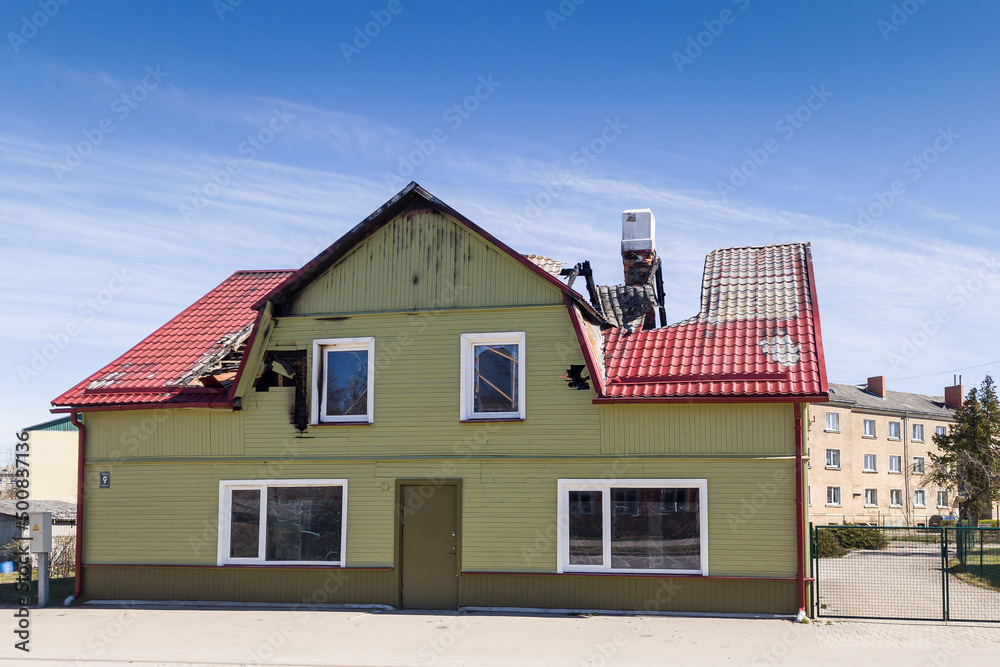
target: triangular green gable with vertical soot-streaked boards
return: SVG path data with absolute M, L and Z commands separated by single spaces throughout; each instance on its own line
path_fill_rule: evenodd
M 557 287 L 449 216 L 416 203 L 316 276 L 285 314 L 562 303 Z

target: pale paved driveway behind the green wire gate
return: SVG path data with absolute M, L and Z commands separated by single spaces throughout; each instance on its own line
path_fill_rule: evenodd
M 884 551 L 821 558 L 823 613 L 879 618 L 942 618 L 941 550 L 937 544 L 892 542 Z M 1000 591 L 950 576 L 951 618 L 1000 621 Z M 1000 664 L 1000 660 L 997 661 Z

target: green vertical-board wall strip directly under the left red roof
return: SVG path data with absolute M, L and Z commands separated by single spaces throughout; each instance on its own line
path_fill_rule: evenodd
M 243 415 L 198 408 L 88 412 L 87 458 L 242 456 Z

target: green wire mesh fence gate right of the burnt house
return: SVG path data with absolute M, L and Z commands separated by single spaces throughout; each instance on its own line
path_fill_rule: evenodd
M 816 526 L 816 615 L 1000 621 L 1000 529 Z

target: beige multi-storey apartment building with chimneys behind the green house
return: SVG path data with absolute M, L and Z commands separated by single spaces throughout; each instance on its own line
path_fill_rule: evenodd
M 934 435 L 955 423 L 964 387 L 943 396 L 889 391 L 884 376 L 830 383 L 809 423 L 809 516 L 816 524 L 927 526 L 959 514 L 954 491 L 927 481 Z M 986 517 L 988 518 L 988 517 Z

